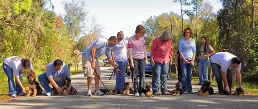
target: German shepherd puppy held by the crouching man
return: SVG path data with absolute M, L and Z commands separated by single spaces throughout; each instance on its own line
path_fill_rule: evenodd
M 64 83 L 62 86 L 62 91 L 66 91 L 69 88 L 69 84 L 71 83 L 71 79 L 69 79 L 68 77 L 64 77 Z M 77 91 L 75 88 L 71 87 L 70 92 L 68 93 L 68 91 L 65 92 L 64 96 L 67 95 L 78 95 Z M 53 96 L 60 96 L 61 94 L 58 94 L 57 90 L 54 90 L 54 94 Z

